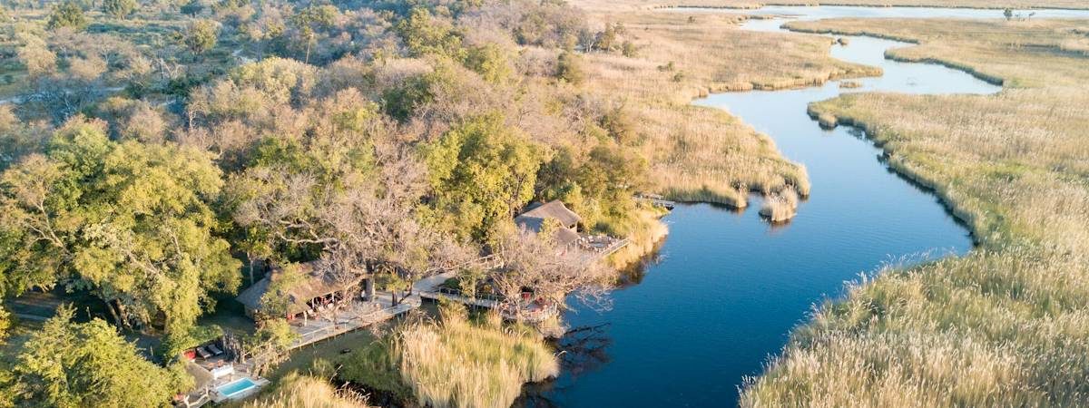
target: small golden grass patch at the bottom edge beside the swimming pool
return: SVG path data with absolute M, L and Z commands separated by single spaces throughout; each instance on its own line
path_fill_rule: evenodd
M 338 392 L 328 382 L 313 376 L 290 373 L 273 390 L 242 408 L 365 408 L 366 398 Z

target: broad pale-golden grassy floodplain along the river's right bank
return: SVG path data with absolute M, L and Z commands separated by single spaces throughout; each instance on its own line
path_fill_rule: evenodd
M 793 28 L 920 44 L 890 57 L 1000 78 L 995 96 L 815 103 L 933 188 L 979 248 L 890 267 L 825 302 L 744 406 L 1076 406 L 1089 398 L 1086 21 L 866 21 Z

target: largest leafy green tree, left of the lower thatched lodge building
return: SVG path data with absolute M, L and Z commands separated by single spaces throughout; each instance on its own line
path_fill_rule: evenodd
M 105 124 L 70 122 L 45 154 L 0 175 L 0 235 L 17 287 L 93 290 L 115 321 L 184 333 L 210 293 L 233 293 L 240 262 L 215 234 L 222 187 L 211 157 L 171 145 L 115 143 Z

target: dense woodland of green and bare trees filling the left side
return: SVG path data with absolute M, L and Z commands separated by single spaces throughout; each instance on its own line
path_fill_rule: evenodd
M 268 264 L 407 288 L 498 251 L 544 273 L 511 221 L 535 200 L 620 237 L 657 222 L 624 104 L 580 87 L 583 55 L 631 47 L 562 1 L 5 1 L 0 295 L 106 313 L 9 344 L 0 406 L 166 405 L 215 335 L 198 318 Z M 155 362 L 119 331 L 161 338 Z

